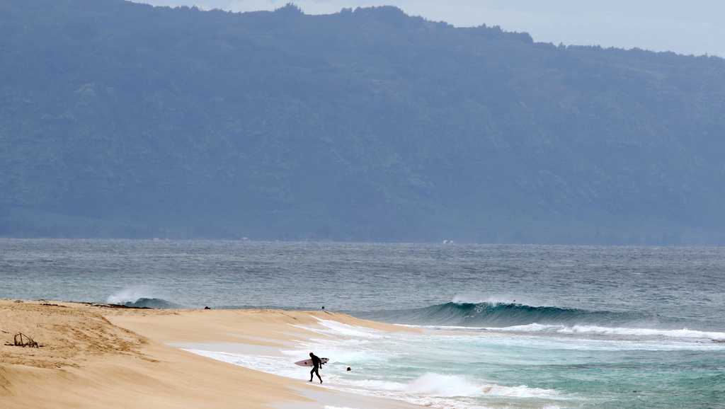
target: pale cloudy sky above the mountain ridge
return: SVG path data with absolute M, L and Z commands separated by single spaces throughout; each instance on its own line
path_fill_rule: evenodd
M 236 12 L 270 10 L 291 0 L 136 0 Z M 409 15 L 456 26 L 500 25 L 536 41 L 639 47 L 725 57 L 725 0 L 295 0 L 307 14 L 394 5 Z

